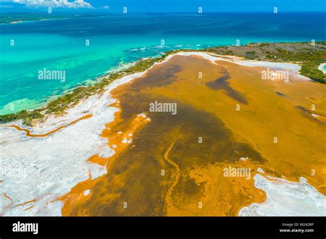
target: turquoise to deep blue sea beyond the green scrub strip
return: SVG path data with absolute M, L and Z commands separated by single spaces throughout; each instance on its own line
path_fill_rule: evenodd
M 232 45 L 237 39 L 241 45 L 325 41 L 320 19 L 325 13 L 115 14 L 0 25 L 0 114 L 41 106 L 113 67 L 171 49 Z M 39 80 L 43 69 L 64 70 L 65 81 Z

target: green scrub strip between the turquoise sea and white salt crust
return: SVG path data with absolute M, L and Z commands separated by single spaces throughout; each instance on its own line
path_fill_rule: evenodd
M 149 69 L 155 62 L 162 62 L 170 54 L 177 52 L 195 52 L 191 49 L 179 49 L 166 52 L 157 58 L 147 58 L 135 63 L 132 67 L 109 74 L 96 84 L 78 87 L 72 92 L 62 95 L 41 109 L 33 111 L 20 111 L 8 115 L 0 115 L 0 124 L 6 124 L 14 120 L 23 120 L 23 124 L 30 125 L 32 120 L 41 119 L 45 115 L 61 115 L 67 109 L 75 106 L 80 100 L 87 99 L 90 95 L 101 93 L 108 84 L 118 78 L 132 73 Z M 295 62 L 301 65 L 301 74 L 312 80 L 326 84 L 326 75 L 318 69 L 321 63 L 326 62 L 326 42 L 310 43 L 253 43 L 244 46 L 211 47 L 198 52 L 210 52 L 213 54 L 241 56 L 250 60 L 270 60 L 274 62 Z

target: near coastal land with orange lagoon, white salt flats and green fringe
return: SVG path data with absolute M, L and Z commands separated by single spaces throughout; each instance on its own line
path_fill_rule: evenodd
M 140 60 L 2 116 L 0 157 L 20 177 L 2 172 L 0 214 L 325 216 L 325 84 L 222 50 Z

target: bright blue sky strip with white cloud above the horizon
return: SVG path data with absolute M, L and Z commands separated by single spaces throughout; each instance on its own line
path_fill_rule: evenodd
M 102 10 L 122 12 L 326 12 L 326 0 L 0 0 L 0 8 L 38 11 Z

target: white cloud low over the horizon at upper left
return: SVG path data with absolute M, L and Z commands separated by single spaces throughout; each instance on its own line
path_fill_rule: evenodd
M 28 7 L 51 7 L 51 8 L 93 8 L 84 0 L 14 0 L 14 3 L 25 4 Z

